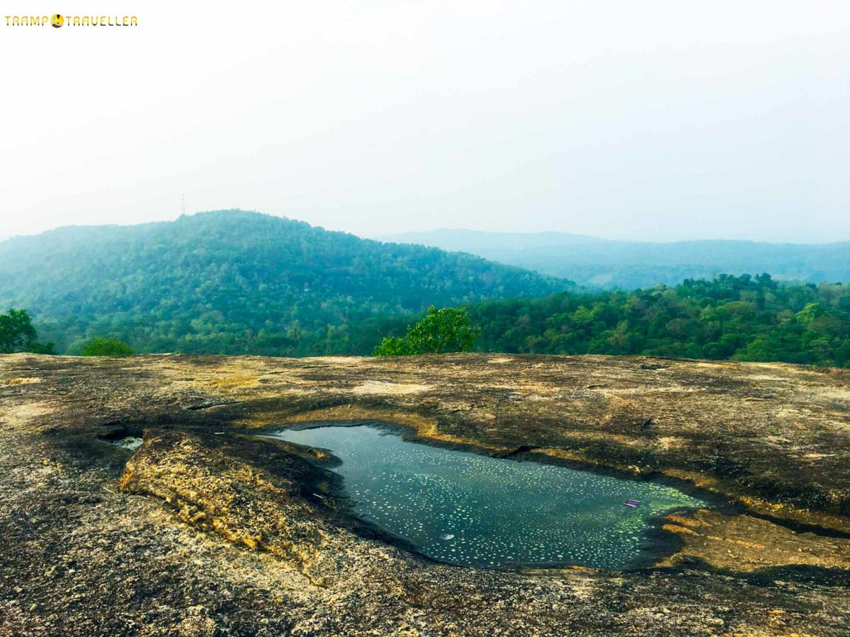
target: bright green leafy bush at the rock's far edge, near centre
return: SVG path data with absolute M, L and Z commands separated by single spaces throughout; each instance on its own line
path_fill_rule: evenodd
M 404 338 L 388 336 L 375 348 L 375 356 L 471 352 L 480 330 L 473 327 L 465 307 L 428 307 Z

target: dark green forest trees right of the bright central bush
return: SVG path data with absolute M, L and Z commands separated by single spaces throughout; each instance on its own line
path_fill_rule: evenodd
M 488 352 L 644 354 L 850 367 L 850 285 L 767 274 L 470 307 Z

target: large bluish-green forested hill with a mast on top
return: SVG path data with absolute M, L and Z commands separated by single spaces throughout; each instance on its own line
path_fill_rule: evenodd
M 143 352 L 297 355 L 320 339 L 356 350 L 351 326 L 374 317 L 569 287 L 477 256 L 245 211 L 0 243 L 0 308 L 26 307 L 58 352 L 94 335 Z

